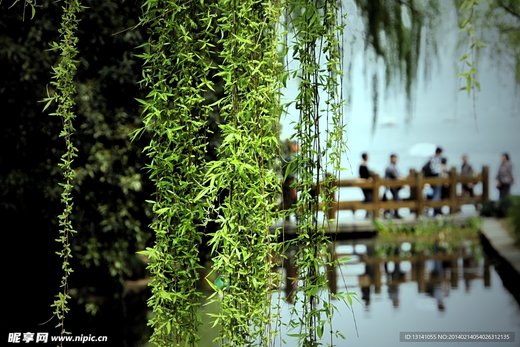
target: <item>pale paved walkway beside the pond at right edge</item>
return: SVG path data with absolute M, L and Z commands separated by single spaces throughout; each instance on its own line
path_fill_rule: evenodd
M 486 218 L 482 223 L 482 235 L 497 253 L 520 274 L 520 249 L 514 246 L 514 239 L 504 230 L 500 221 Z

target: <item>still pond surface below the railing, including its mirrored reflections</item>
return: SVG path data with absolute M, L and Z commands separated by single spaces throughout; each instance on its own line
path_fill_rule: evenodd
M 288 258 L 293 254 L 289 249 Z M 351 259 L 331 269 L 330 291 L 356 291 L 362 302 L 354 304 L 354 315 L 336 303 L 333 329 L 347 337 L 335 339 L 338 346 L 398 345 L 399 331 L 515 331 L 520 338 L 518 302 L 503 287 L 478 239 L 456 246 L 358 239 L 337 243 L 335 257 Z M 286 260 L 279 270 L 283 295 L 290 298 L 295 267 Z M 283 321 L 289 320 L 288 301 L 280 312 Z M 203 347 L 216 345 L 209 337 L 218 329 L 210 326 L 206 330 L 214 331 L 201 333 Z

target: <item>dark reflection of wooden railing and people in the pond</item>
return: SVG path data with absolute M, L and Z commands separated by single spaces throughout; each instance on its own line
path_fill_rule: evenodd
M 348 256 L 352 259 L 346 266 L 331 269 L 331 292 L 359 287 L 365 309 L 369 310 L 371 286 L 374 294 L 380 294 L 382 287 L 386 287 L 388 298 L 394 308 L 398 308 L 399 286 L 412 282 L 417 284 L 419 293 L 434 298 L 438 310 L 444 311 L 444 298 L 449 296 L 451 289 L 458 288 L 459 279 L 463 279 L 466 292 L 470 291 L 475 279 L 483 279 L 484 286 L 490 286 L 490 264 L 476 239 L 459 247 L 434 244 L 419 250 L 417 246 L 406 241 L 381 244 L 376 239 L 337 245 L 337 258 Z

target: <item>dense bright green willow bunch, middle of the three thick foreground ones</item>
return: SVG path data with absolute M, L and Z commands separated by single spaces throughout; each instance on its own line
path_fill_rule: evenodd
M 278 234 L 270 233 L 280 181 L 274 167 L 278 157 L 278 89 L 281 63 L 278 1 L 220 0 L 223 12 L 223 64 L 217 73 L 224 81 L 224 98 L 217 101 L 222 145 L 221 159 L 208 164 L 206 184 L 211 212 L 220 228 L 213 236 L 213 270 L 222 285 L 210 283 L 222 300 L 218 340 L 224 346 L 271 345 L 272 255 Z M 218 204 L 218 196 L 223 201 Z M 212 295 L 212 297 L 214 297 Z

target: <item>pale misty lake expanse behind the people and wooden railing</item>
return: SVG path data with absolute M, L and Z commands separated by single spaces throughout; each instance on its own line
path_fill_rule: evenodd
M 412 113 L 407 111 L 404 87 L 396 85 L 388 90 L 384 82 L 384 66 L 381 59 L 376 62 L 373 53 L 364 51 L 363 37 L 359 30 L 361 20 L 352 5 L 345 3 L 347 29 L 345 29 L 345 54 L 349 55 L 350 40 L 356 37 L 353 46 L 353 68 L 350 80 L 344 77 L 344 98 L 350 104 L 345 108 L 347 156 L 342 158 L 342 166 L 347 171 L 341 178 L 357 178 L 361 153 L 370 156 L 368 167 L 383 175 L 389 163 L 389 155 L 399 156 L 398 168 L 407 175 L 410 168 L 420 170 L 426 163 L 426 157 L 410 157 L 407 151 L 419 142 L 431 142 L 444 149 L 448 168 L 456 166 L 460 171 L 461 156 L 469 155 L 469 162 L 477 172 L 483 165 L 489 166 L 491 199 L 498 199 L 495 188 L 495 176 L 500 165 L 501 153 L 508 152 L 513 164 L 514 176 L 520 179 L 520 94 L 514 82 L 514 75 L 509 66 L 498 64 L 491 59 L 489 50 L 482 51 L 477 68 L 477 75 L 482 90 L 476 91 L 476 118 L 473 96 L 466 91 L 459 91 L 461 70 L 459 58 L 465 53 L 457 48 L 459 33 L 456 11 L 450 1 L 443 1 L 441 11 L 443 19 L 437 31 L 438 55 L 430 57 L 429 72 L 425 75 L 425 57 L 421 57 L 418 68 L 418 80 L 412 97 Z M 465 36 L 463 36 L 465 37 Z M 423 35 L 423 45 L 425 38 Z M 424 51 L 422 47 L 422 52 Z M 345 60 L 345 70 L 348 60 Z M 293 61 L 290 69 L 295 67 Z M 372 74 L 379 71 L 378 117 L 373 124 Z M 282 92 L 288 100 L 293 100 L 297 93 L 297 80 L 290 79 Z M 350 95 L 349 95 L 349 92 Z M 321 96 L 324 100 L 324 96 Z M 281 119 L 281 138 L 289 138 L 293 133 L 291 122 L 297 122 L 298 112 L 294 105 L 289 114 Z M 326 126 L 326 119 L 320 119 L 320 128 Z M 325 135 L 320 136 L 321 143 Z M 432 153 L 433 155 L 433 153 Z M 480 189 L 482 191 L 482 189 Z M 476 193 L 478 190 L 476 191 Z M 520 194 L 520 185 L 511 187 L 512 194 Z M 340 199 L 362 199 L 362 193 L 356 189 L 343 189 Z

